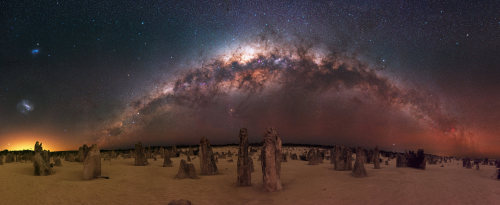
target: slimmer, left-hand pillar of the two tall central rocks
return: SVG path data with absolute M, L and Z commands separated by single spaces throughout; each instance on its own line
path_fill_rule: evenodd
M 248 131 L 240 129 L 240 148 L 238 150 L 238 186 L 252 185 L 252 158 L 248 156 Z

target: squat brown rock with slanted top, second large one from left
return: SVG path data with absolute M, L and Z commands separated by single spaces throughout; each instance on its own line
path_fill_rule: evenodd
M 101 152 L 93 144 L 85 153 L 83 160 L 83 179 L 90 180 L 101 176 Z

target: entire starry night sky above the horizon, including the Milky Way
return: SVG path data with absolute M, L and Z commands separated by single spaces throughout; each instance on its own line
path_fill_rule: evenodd
M 259 142 L 500 155 L 499 1 L 0 3 L 0 149 Z

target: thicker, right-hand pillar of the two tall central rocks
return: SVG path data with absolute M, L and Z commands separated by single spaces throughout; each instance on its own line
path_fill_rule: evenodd
M 281 190 L 281 139 L 276 129 L 267 129 L 261 156 L 264 189 L 269 192 Z

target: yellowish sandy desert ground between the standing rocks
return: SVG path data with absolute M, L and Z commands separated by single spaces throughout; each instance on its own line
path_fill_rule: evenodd
M 223 151 L 227 148 L 214 148 Z M 232 151 L 236 152 L 235 149 Z M 237 152 L 236 152 L 237 153 Z M 465 169 L 458 161 L 427 165 L 426 170 L 396 168 L 395 160 L 382 169 L 365 164 L 366 178 L 350 171 L 334 171 L 329 161 L 307 165 L 306 161 L 282 163 L 283 190 L 262 190 L 260 162 L 254 156 L 251 187 L 236 186 L 236 161 L 219 159 L 220 174 L 200 179 L 175 179 L 174 167 L 163 160 L 133 166 L 134 159 L 102 161 L 102 175 L 110 179 L 82 179 L 83 165 L 63 161 L 50 176 L 33 176 L 31 163 L 0 165 L 0 204 L 168 204 L 188 199 L 193 204 L 500 204 L 500 181 L 493 166 Z M 198 158 L 193 160 L 199 173 Z

